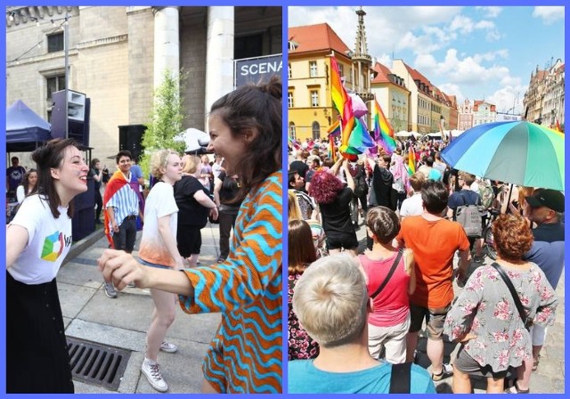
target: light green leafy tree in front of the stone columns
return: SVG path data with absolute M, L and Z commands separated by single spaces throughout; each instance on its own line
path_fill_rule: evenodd
M 172 149 L 183 153 L 184 142 L 176 136 L 183 130 L 183 99 L 180 96 L 180 85 L 184 80 L 181 71 L 177 77 L 171 70 L 165 69 L 162 83 L 154 91 L 154 104 L 146 130 L 142 135 L 144 148 L 140 166 L 142 173 L 148 177 L 151 167 L 151 154 L 154 151 Z

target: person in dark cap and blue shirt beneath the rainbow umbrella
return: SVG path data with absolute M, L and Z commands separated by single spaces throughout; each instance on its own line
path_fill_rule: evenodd
M 564 269 L 564 194 L 550 189 L 537 189 L 533 194 L 525 197 L 526 215 L 537 227 L 533 229 L 533 246 L 524 259 L 538 265 L 556 289 Z M 538 369 L 546 332 L 547 328 L 538 324 L 531 327 L 533 359 L 517 368 L 517 383 L 509 392 L 528 392 L 531 373 Z

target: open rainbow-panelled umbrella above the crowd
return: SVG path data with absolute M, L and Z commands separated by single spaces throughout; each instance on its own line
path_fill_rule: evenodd
M 442 159 L 452 167 L 506 183 L 564 191 L 564 134 L 526 121 L 472 127 Z

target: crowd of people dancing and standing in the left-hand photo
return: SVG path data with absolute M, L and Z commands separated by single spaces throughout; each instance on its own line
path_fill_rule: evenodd
M 134 159 L 119 151 L 118 170 L 105 183 L 110 248 L 98 259 L 105 293 L 117 297 L 127 285 L 151 290 L 141 370 L 159 392 L 168 390 L 159 351 L 177 349 L 165 336 L 178 303 L 187 314 L 222 314 L 202 365 L 204 393 L 281 393 L 281 94 L 281 79 L 273 77 L 214 102 L 208 151 L 218 167 L 155 151 L 154 183 L 142 202 Z M 85 164 L 70 139 L 47 142 L 32 158 L 36 189 L 26 187 L 6 226 L 6 388 L 73 393 L 56 275 L 72 242 L 72 199 L 87 190 L 88 176 L 103 183 L 105 175 L 99 161 Z M 224 252 L 214 265 L 198 265 L 199 229 L 208 216 L 222 215 L 222 205 Z M 142 238 L 134 257 L 137 219 Z

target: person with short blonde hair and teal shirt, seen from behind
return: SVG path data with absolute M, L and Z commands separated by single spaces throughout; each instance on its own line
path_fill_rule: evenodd
M 368 351 L 371 302 L 362 269 L 354 256 L 323 257 L 297 281 L 293 310 L 319 343 L 315 359 L 289 362 L 289 394 L 383 394 L 393 384 L 392 365 Z M 428 371 L 408 363 L 411 393 L 436 393 Z M 400 381 L 398 381 L 400 382 Z

